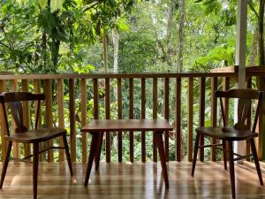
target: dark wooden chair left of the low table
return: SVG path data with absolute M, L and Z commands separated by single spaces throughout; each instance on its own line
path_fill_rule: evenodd
M 0 103 L 4 112 L 4 124 L 6 126 L 7 134 L 5 135 L 5 141 L 7 142 L 7 151 L 4 157 L 4 165 L 2 169 L 0 188 L 3 187 L 4 177 L 9 160 L 11 159 L 11 146 L 12 142 L 22 142 L 27 144 L 33 144 L 33 155 L 19 159 L 22 162 L 31 162 L 28 159 L 33 157 L 33 194 L 34 199 L 37 198 L 37 180 L 38 180 L 38 165 L 39 154 L 49 149 L 65 149 L 69 169 L 72 174 L 72 163 L 70 159 L 70 153 L 68 144 L 66 141 L 66 130 L 64 128 L 38 128 L 38 120 L 40 114 L 41 101 L 44 100 L 43 94 L 32 94 L 29 92 L 7 92 L 0 96 Z M 37 102 L 37 111 L 34 121 L 34 129 L 28 130 L 23 124 L 23 105 L 22 102 L 34 101 Z M 7 117 L 7 107 L 5 103 L 8 103 L 8 107 L 11 109 L 11 116 L 16 124 L 15 132 L 10 134 L 10 127 Z M 27 103 L 27 102 L 26 102 Z M 46 147 L 41 148 L 40 142 L 45 142 L 53 138 L 63 136 L 64 147 Z M 15 159 L 16 160 L 16 159 Z

